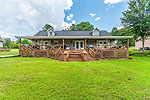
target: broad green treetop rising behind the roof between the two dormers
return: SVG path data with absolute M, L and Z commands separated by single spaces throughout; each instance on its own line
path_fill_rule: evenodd
M 94 26 L 89 22 L 81 22 L 80 24 L 72 24 L 69 29 L 70 31 L 92 31 L 94 30 Z

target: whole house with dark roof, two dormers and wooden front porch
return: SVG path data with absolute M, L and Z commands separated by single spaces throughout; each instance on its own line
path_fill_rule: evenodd
M 53 56 L 55 59 L 95 60 L 96 58 L 128 58 L 131 36 L 112 36 L 98 28 L 93 31 L 39 31 L 34 36 L 16 36 L 20 40 L 21 56 Z M 32 45 L 21 45 L 21 39 Z M 116 45 L 119 39 L 127 39 L 127 45 Z

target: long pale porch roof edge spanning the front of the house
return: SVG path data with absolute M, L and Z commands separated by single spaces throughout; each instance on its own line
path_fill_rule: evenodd
M 16 36 L 16 38 L 24 39 L 129 39 L 133 36 Z

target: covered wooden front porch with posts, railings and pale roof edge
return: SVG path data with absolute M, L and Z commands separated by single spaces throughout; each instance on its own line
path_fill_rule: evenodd
M 129 57 L 129 36 L 119 37 L 17 37 L 19 38 L 20 56 L 45 57 L 51 56 L 58 59 L 60 56 L 64 61 L 69 59 L 70 54 L 80 54 L 83 61 L 89 56 L 96 58 L 128 58 Z M 32 45 L 21 45 L 21 39 L 29 39 Z M 117 40 L 126 39 L 127 44 L 116 45 Z M 88 56 L 89 55 L 89 56 Z M 59 60 L 59 59 L 58 59 Z

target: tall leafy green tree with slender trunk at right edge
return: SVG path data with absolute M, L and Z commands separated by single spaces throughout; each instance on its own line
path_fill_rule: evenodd
M 134 39 L 142 41 L 143 55 L 145 39 L 150 36 L 150 3 L 149 0 L 130 0 L 129 8 L 123 12 L 121 22 L 130 27 L 134 33 Z

